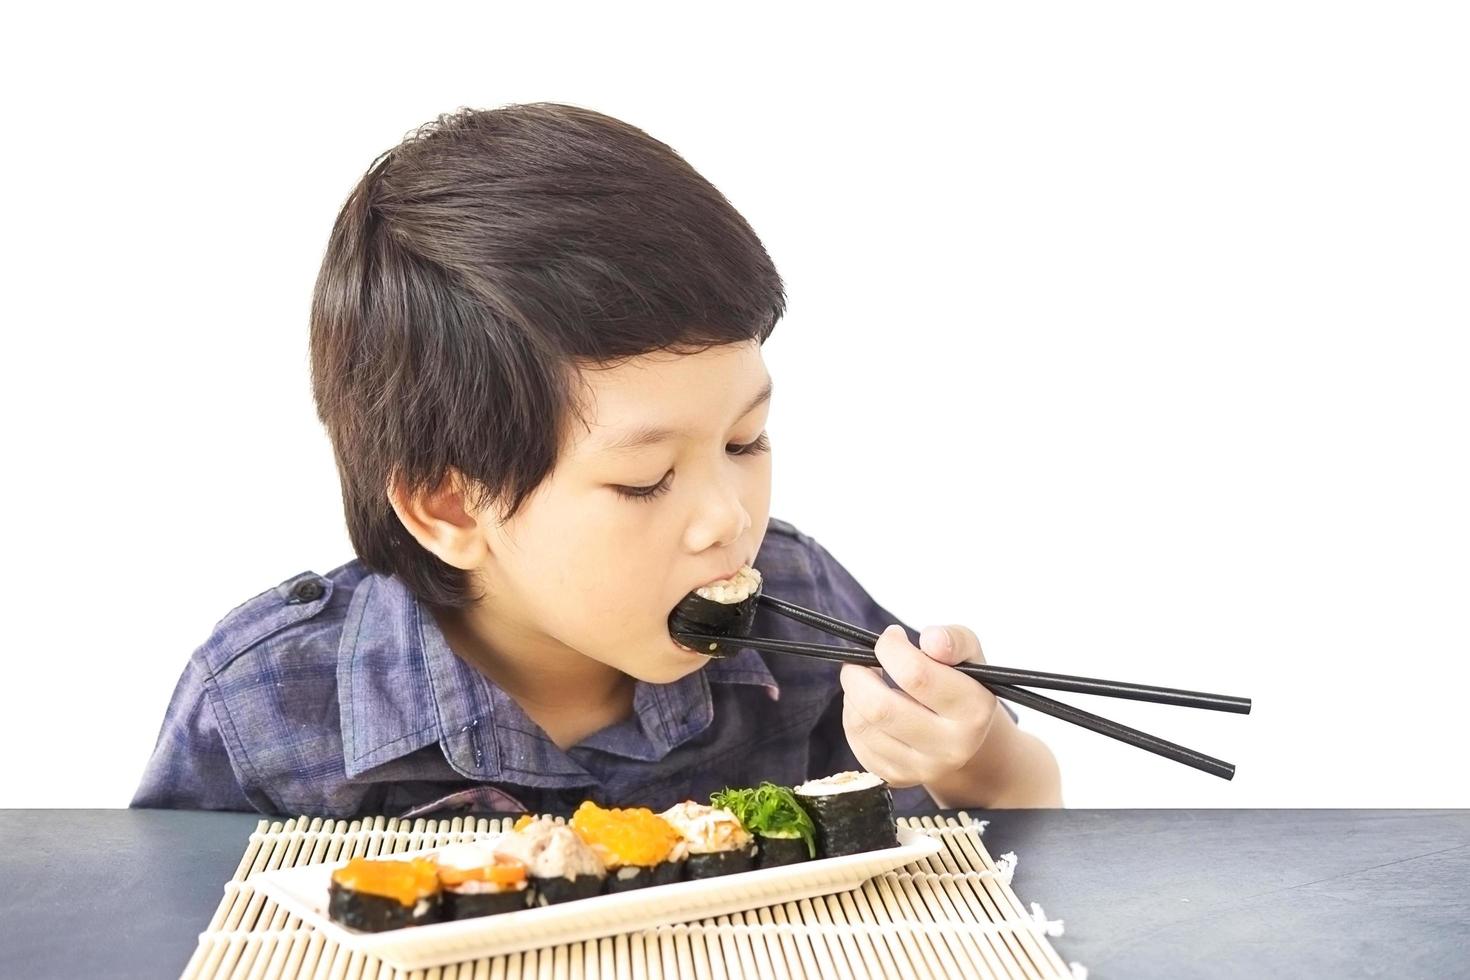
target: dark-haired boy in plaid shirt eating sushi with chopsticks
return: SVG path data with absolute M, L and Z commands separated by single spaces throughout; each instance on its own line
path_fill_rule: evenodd
M 673 150 L 554 103 L 460 110 L 369 167 L 328 242 L 312 382 L 357 558 L 232 610 L 135 807 L 662 810 L 867 768 L 895 804 L 1060 805 L 1050 751 L 772 519 L 782 281 Z M 689 591 L 892 624 L 876 670 L 675 644 Z M 759 614 L 756 633 L 831 638 Z

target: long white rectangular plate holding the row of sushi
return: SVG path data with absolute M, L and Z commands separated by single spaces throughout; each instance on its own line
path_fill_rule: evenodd
M 713 879 L 653 884 L 544 908 L 432 926 L 407 926 L 382 933 L 353 932 L 326 917 L 326 886 L 332 870 L 347 864 L 345 860 L 256 871 L 248 882 L 257 892 L 273 898 L 287 911 L 295 912 L 337 943 L 401 970 L 419 970 L 844 892 L 860 886 L 875 874 L 938 854 L 944 846 L 936 837 L 907 827 L 898 827 L 898 845 L 842 858 L 820 858 Z M 437 849 L 420 848 L 379 857 L 398 860 Z

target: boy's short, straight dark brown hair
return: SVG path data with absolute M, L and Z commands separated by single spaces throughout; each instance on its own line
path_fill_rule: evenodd
M 379 154 L 312 297 L 312 391 L 347 532 L 375 572 L 463 607 L 390 485 L 459 472 L 509 519 L 581 417 L 578 367 L 766 338 L 785 291 L 728 200 L 642 129 L 560 103 L 460 109 Z

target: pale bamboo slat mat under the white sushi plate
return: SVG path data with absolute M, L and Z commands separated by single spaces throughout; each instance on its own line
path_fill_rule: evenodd
M 262 820 L 209 929 L 188 980 L 663 980 L 684 977 L 1005 977 L 1079 980 L 1048 942 L 1061 934 L 1041 907 L 1010 887 L 1016 855 L 992 860 L 983 820 L 904 817 L 939 836 L 932 858 L 878 874 L 861 887 L 676 926 L 403 971 L 326 939 L 245 882 L 253 871 L 438 846 L 506 830 L 510 820 Z

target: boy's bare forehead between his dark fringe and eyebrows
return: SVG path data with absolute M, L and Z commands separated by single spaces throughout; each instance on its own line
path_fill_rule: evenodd
M 657 351 L 579 375 L 582 425 L 573 426 L 573 448 L 581 453 L 606 453 L 637 430 L 723 432 L 770 381 L 757 342 Z

